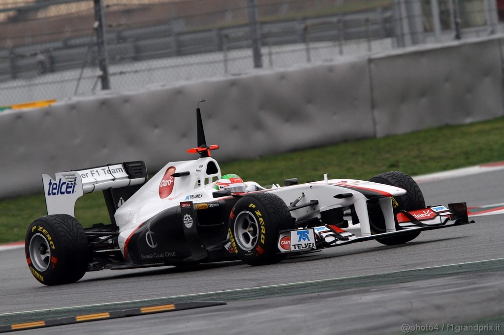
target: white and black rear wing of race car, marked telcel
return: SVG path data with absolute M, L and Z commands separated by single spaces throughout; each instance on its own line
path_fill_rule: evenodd
M 130 161 L 88 169 L 59 172 L 54 179 L 42 175 L 47 215 L 75 217 L 75 203 L 86 193 L 103 191 L 112 223 L 115 210 L 147 182 L 143 161 Z

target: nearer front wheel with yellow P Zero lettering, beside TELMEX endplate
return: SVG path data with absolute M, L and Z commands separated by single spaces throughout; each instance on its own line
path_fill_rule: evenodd
M 285 202 L 272 193 L 253 193 L 239 199 L 229 216 L 229 239 L 238 258 L 249 265 L 282 261 L 278 232 L 292 229 Z

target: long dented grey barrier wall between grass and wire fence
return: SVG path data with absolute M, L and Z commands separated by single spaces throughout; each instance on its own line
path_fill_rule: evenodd
M 42 173 L 191 159 L 195 109 L 221 160 L 504 115 L 502 41 L 422 46 L 292 69 L 105 92 L 0 113 L 0 198 L 42 190 Z

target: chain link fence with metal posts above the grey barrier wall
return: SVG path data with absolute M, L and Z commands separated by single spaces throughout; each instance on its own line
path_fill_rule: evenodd
M 6 0 L 0 106 L 489 36 L 503 10 L 502 0 Z

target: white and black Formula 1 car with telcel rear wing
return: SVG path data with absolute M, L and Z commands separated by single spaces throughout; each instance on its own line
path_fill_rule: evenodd
M 33 276 L 57 285 L 103 269 L 234 260 L 256 266 L 372 239 L 405 243 L 423 230 L 470 223 L 465 203 L 425 206 L 418 185 L 401 172 L 226 188 L 211 157 L 219 146 L 206 144 L 199 107 L 197 129 L 198 146 L 187 151 L 200 158 L 169 162 L 150 180 L 143 161 L 42 175 L 47 216 L 33 221 L 25 238 Z M 83 229 L 75 203 L 96 191 L 103 191 L 110 223 Z

